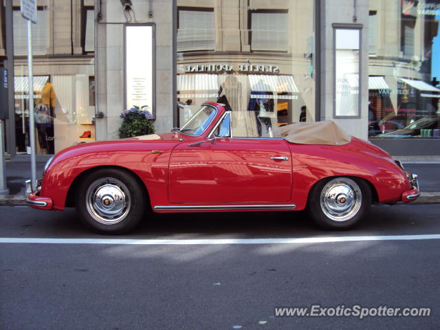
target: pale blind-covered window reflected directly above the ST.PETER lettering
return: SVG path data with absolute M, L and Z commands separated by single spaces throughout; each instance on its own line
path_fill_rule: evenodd
M 250 47 L 254 52 L 287 52 L 287 10 L 250 10 Z

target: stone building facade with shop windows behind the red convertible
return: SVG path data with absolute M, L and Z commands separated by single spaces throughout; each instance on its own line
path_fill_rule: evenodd
M 11 155 L 30 149 L 19 2 L 0 8 Z M 440 0 L 37 5 L 37 153 L 118 138 L 120 113 L 131 107 L 149 111 L 156 131 L 166 132 L 209 100 L 266 127 L 333 120 L 392 155 L 440 155 Z

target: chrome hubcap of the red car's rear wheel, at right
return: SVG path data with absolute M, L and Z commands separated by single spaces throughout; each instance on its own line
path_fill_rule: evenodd
M 358 213 L 361 204 L 362 192 L 351 179 L 333 179 L 322 189 L 320 206 L 331 220 L 350 220 Z

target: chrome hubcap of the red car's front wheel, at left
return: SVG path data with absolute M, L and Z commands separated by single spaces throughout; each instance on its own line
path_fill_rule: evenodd
M 130 206 L 128 189 L 118 179 L 98 179 L 87 190 L 87 210 L 96 221 L 105 225 L 122 221 Z

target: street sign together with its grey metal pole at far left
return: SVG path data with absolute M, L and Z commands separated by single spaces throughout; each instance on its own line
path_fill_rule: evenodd
M 35 120 L 34 120 L 34 73 L 32 70 L 32 23 L 36 23 L 36 0 L 20 1 L 21 16 L 28 20 L 28 77 L 29 77 L 29 135 L 31 190 L 36 190 Z M 32 22 L 32 23 L 31 23 Z

